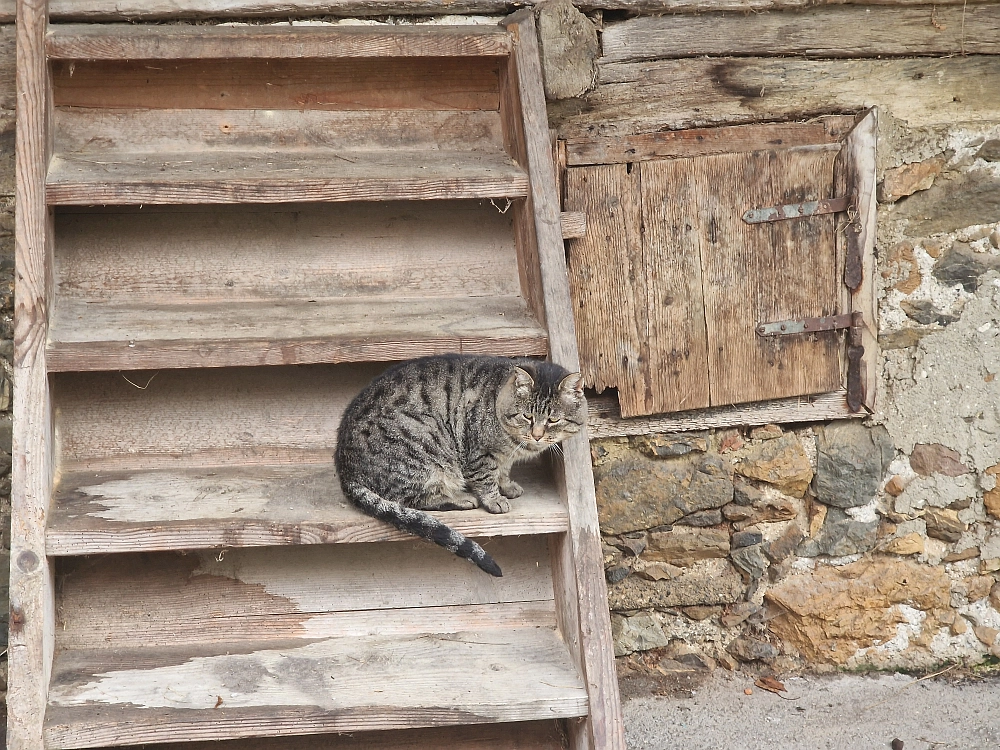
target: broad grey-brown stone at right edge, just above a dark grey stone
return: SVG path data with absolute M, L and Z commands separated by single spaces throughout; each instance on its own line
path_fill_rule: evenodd
M 1000 219 L 1000 176 L 988 169 L 945 173 L 929 190 L 900 201 L 893 216 L 908 221 L 911 237 L 992 224 Z

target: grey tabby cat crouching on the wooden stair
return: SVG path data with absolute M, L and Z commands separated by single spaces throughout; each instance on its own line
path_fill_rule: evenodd
M 458 354 L 403 362 L 344 412 L 340 484 L 368 515 L 501 576 L 482 547 L 424 511 L 509 511 L 505 498 L 522 492 L 511 465 L 577 432 L 584 404 L 582 376 L 550 362 Z

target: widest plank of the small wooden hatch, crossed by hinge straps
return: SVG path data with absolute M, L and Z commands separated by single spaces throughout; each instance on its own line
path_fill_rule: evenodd
M 702 204 L 689 213 L 702 247 L 713 406 L 841 386 L 841 335 L 758 336 L 759 323 L 833 315 L 839 305 L 832 215 L 747 224 L 748 208 L 831 198 L 839 149 L 706 156 L 689 169 Z M 815 339 L 815 340 L 814 340 Z

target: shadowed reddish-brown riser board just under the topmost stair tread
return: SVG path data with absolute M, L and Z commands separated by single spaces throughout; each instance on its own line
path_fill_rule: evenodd
M 52 77 L 67 107 L 495 110 L 500 60 L 57 61 Z

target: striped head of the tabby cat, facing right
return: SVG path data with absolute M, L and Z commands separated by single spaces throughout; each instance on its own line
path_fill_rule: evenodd
M 503 429 L 521 446 L 540 452 L 583 427 L 583 375 L 549 362 L 519 363 L 497 397 Z

